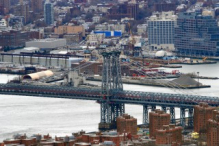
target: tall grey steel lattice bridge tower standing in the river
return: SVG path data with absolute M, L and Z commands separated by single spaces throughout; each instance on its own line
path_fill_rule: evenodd
M 112 91 L 123 90 L 119 51 L 103 52 L 102 69 L 102 94 L 100 100 L 101 120 L 99 129 L 110 129 L 116 126 L 116 118 L 125 112 L 124 104 L 113 103 L 110 99 L 114 96 Z

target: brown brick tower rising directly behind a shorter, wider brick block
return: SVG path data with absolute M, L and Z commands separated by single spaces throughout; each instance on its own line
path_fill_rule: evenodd
M 149 113 L 149 132 L 150 138 L 156 138 L 156 130 L 161 129 L 163 125 L 170 124 L 170 114 L 156 109 Z

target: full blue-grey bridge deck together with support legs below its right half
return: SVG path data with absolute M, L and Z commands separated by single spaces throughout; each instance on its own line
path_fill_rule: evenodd
M 106 96 L 102 94 L 101 89 L 56 85 L 0 84 L 0 94 L 106 101 Z M 109 104 L 143 105 L 143 123 L 148 123 L 149 107 L 155 109 L 156 106 L 161 106 L 165 111 L 170 108 L 171 122 L 174 123 L 175 107 L 180 108 L 180 117 L 185 119 L 186 109 L 189 110 L 189 117 L 192 117 L 194 105 L 206 102 L 211 106 L 218 106 L 219 97 L 124 90 L 111 91 L 108 102 Z M 185 125 L 185 121 L 182 120 L 181 124 Z

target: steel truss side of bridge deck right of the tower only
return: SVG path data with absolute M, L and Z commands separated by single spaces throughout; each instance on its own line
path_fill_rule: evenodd
M 140 92 L 140 91 L 117 91 L 114 93 L 114 99 L 123 100 L 138 100 L 139 102 L 153 102 L 153 103 L 167 103 L 178 106 L 197 105 L 200 102 L 207 102 L 209 105 L 218 106 L 219 98 L 211 96 L 198 96 L 186 94 L 169 94 L 169 93 L 155 93 L 155 92 Z

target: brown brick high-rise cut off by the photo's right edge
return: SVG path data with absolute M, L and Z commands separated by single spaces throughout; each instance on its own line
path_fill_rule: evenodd
M 212 112 L 212 119 L 208 120 L 207 126 L 207 145 L 219 145 L 219 111 Z

